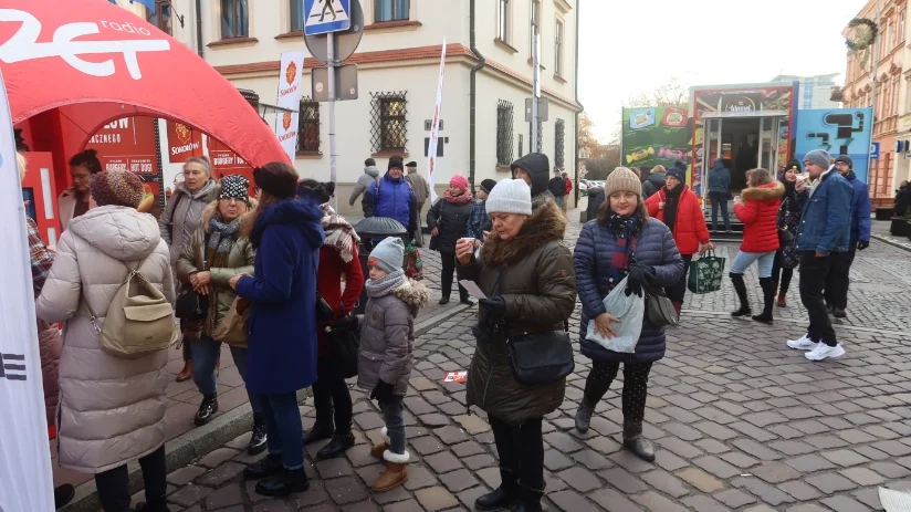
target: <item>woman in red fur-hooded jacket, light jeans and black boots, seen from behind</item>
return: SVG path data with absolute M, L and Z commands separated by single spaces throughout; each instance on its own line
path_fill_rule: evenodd
M 740 297 L 741 306 L 731 313 L 731 316 L 746 316 L 750 301 L 746 299 L 746 284 L 743 274 L 754 262 L 758 262 L 760 285 L 763 289 L 763 313 L 754 315 L 753 320 L 772 324 L 772 305 L 775 301 L 775 280 L 772 278 L 772 267 L 775 263 L 775 252 L 778 250 L 778 208 L 785 186 L 775 180 L 766 169 L 748 171 L 748 188 L 734 198 L 734 215 L 743 227 L 743 243 L 741 250 L 731 264 L 731 281 Z

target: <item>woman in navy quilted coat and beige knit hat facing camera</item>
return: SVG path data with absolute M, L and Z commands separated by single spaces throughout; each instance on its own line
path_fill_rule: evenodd
M 585 338 L 588 322 L 605 337 L 616 334 L 619 318 L 605 311 L 604 299 L 624 278 L 627 295 L 642 288 L 671 286 L 683 278 L 683 259 L 667 226 L 650 219 L 642 202 L 642 186 L 635 173 L 618 167 L 605 184 L 606 200 L 597 220 L 583 227 L 576 243 L 576 280 L 582 301 L 582 354 L 593 361 L 585 395 L 576 412 L 576 429 L 588 430 L 591 414 L 624 364 L 624 446 L 639 458 L 655 460 L 655 447 L 642 437 L 647 386 L 651 365 L 664 357 L 664 330 L 642 318 L 635 354 L 611 352 Z

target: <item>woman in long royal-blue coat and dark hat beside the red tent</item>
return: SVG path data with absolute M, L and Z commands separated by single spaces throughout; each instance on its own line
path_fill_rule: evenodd
M 316 380 L 316 267 L 323 211 L 294 199 L 297 173 L 287 164 L 253 169 L 260 203 L 242 226 L 256 249 L 254 275 L 230 284 L 251 302 L 247 387 L 262 396 L 269 457 L 244 470 L 256 492 L 281 497 L 307 490 L 297 390 Z

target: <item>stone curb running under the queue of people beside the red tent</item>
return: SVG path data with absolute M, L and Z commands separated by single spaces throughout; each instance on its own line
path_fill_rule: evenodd
M 297 404 L 303 403 L 310 396 L 310 388 L 297 391 Z M 205 457 L 226 442 L 249 432 L 252 427 L 253 410 L 248 403 L 217 417 L 208 425 L 196 427 L 166 441 L 165 464 L 168 472 Z M 130 462 L 127 469 L 129 471 L 129 494 L 133 495 L 143 490 L 143 471 L 138 461 Z M 95 480 L 92 479 L 76 487 L 75 498 L 66 506 L 60 509 L 60 512 L 97 512 L 101 508 Z

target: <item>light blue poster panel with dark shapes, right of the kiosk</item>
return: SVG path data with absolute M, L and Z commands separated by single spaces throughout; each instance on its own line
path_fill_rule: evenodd
M 873 136 L 872 108 L 824 108 L 799 111 L 794 157 L 804 161 L 807 153 L 825 149 L 833 157 L 848 155 L 857 179 L 867 182 L 867 158 Z

